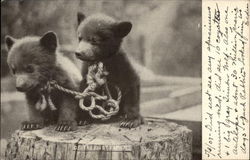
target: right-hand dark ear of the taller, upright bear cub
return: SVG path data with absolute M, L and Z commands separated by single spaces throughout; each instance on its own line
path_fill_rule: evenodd
M 131 22 L 120 22 L 115 25 L 114 32 L 115 35 L 119 38 L 123 38 L 126 35 L 129 34 L 129 32 L 132 29 L 132 23 Z

